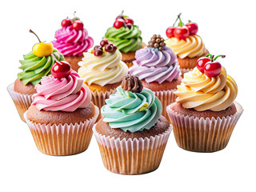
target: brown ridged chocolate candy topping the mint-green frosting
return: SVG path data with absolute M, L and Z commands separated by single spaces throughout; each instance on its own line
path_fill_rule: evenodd
M 142 81 L 135 75 L 127 74 L 122 80 L 122 89 L 128 90 L 134 93 L 140 93 L 143 89 Z

